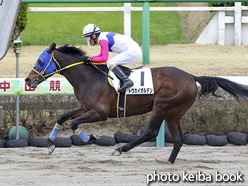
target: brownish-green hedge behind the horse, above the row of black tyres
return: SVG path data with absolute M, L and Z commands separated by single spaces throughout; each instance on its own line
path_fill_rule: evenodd
M 0 96 L 0 105 L 4 109 L 2 128 L 12 128 L 15 124 L 15 96 Z M 20 125 L 28 129 L 32 136 L 50 133 L 57 118 L 66 112 L 77 109 L 75 96 L 20 96 Z M 94 123 L 101 128 L 115 126 L 112 131 L 125 131 L 139 134 L 147 129 L 151 113 L 126 118 L 110 118 L 107 121 Z M 90 124 L 93 125 L 93 124 Z M 199 135 L 226 135 L 229 132 L 248 133 L 248 106 L 235 100 L 208 98 L 197 100 L 181 119 L 184 133 Z M 63 129 L 70 129 L 70 121 L 65 122 Z M 168 129 L 166 129 L 168 130 Z M 5 132 L 6 135 L 8 131 Z M 1 134 L 0 139 L 4 135 Z

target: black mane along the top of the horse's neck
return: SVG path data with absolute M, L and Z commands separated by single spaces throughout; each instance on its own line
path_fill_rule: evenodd
M 65 54 L 72 55 L 74 57 L 77 57 L 78 59 L 85 61 L 88 56 L 86 56 L 86 52 L 83 51 L 81 48 L 77 48 L 75 46 L 69 46 L 68 44 L 61 46 L 57 49 L 60 52 L 63 52 Z

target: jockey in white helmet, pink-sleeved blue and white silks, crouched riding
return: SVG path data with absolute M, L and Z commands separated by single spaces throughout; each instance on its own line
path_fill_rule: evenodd
M 133 86 L 133 82 L 121 70 L 118 65 L 124 65 L 134 62 L 141 58 L 142 52 L 139 45 L 130 37 L 111 33 L 101 32 L 95 24 L 88 24 L 83 29 L 83 36 L 86 37 L 88 46 L 99 44 L 101 52 L 97 56 L 91 58 L 92 62 L 106 62 L 109 70 L 123 81 L 123 86 L 118 89 L 119 92 L 124 92 L 127 88 Z M 109 58 L 109 52 L 118 53 L 112 59 Z

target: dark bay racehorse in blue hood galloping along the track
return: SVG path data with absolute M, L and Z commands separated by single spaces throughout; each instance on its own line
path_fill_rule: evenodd
M 43 57 L 39 57 L 25 79 L 28 86 L 36 88 L 55 73 L 67 78 L 74 88 L 79 108 L 62 114 L 57 123 L 71 119 L 72 130 L 77 129 L 79 124 L 117 117 L 116 91 L 109 85 L 106 74 L 86 64 L 87 59 L 86 53 L 79 48 L 64 45 L 57 49 L 53 43 L 43 52 Z M 108 72 L 106 65 L 99 65 L 98 68 Z M 173 164 L 183 144 L 180 119 L 195 102 L 197 95 L 199 98 L 209 94 L 218 96 L 215 92 L 220 87 L 238 101 L 248 97 L 248 89 L 243 85 L 220 77 L 197 77 L 175 67 L 151 68 L 151 73 L 154 94 L 127 95 L 126 98 L 126 116 L 152 112 L 149 127 L 144 135 L 116 148 L 113 155 L 121 155 L 156 137 L 165 120 L 173 138 L 173 150 L 168 160 Z M 196 82 L 201 85 L 199 92 Z

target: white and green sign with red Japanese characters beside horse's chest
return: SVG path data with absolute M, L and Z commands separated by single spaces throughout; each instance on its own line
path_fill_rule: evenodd
M 65 78 L 50 78 L 35 89 L 24 78 L 0 78 L 0 95 L 74 95 L 74 90 Z

